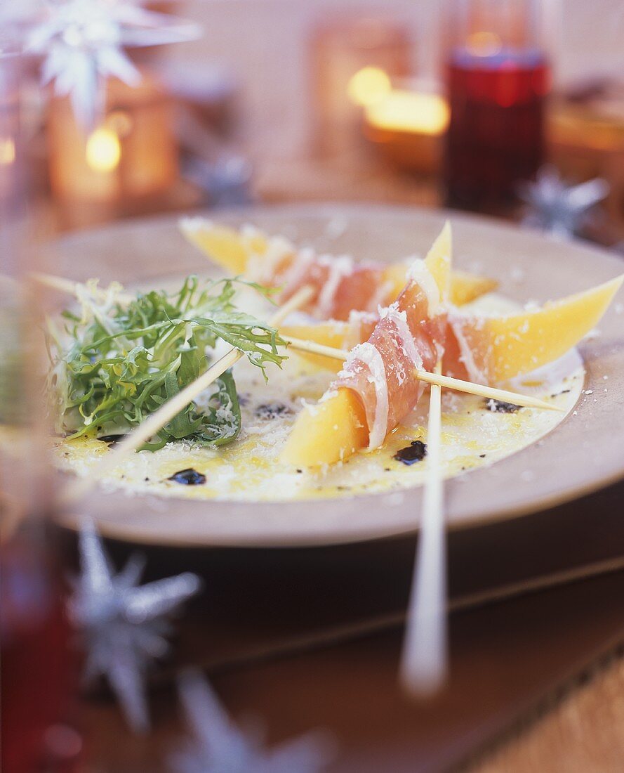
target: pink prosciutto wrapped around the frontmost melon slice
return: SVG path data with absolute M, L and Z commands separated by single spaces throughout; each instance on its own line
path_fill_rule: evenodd
M 362 325 L 369 324 L 365 319 Z M 368 451 L 383 444 L 418 403 L 424 385 L 415 369 L 432 370 L 443 356 L 446 308 L 424 261 L 415 261 L 410 278 L 392 305 L 379 309 L 368 340 L 351 350 L 331 385 L 353 390 L 365 407 Z

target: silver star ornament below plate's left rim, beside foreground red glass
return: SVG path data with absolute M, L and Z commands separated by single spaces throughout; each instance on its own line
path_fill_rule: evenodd
M 168 615 L 198 592 L 201 581 L 185 572 L 139 585 L 145 561 L 138 554 L 116 574 L 89 520 L 80 530 L 79 550 L 81 571 L 73 581 L 69 613 L 85 639 L 85 681 L 106 676 L 128 724 L 147 730 L 146 670 L 168 652 Z

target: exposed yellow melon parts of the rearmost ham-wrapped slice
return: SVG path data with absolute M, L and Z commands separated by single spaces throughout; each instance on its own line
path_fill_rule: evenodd
M 180 230 L 198 250 L 229 274 L 244 274 L 249 257 L 266 253 L 267 237 L 260 230 L 252 229 L 249 233 L 245 230 L 237 231 L 219 226 L 204 217 L 182 218 Z M 405 287 L 408 268 L 409 263 L 401 262 L 385 269 L 383 281 L 388 282 L 390 288 L 388 299 L 396 298 Z M 497 281 L 487 277 L 453 271 L 450 277 L 450 301 L 456 306 L 469 303 L 497 288 L 497 284 Z

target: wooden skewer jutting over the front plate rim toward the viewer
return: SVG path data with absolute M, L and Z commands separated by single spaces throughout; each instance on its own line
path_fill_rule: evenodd
M 439 374 L 441 363 L 436 366 Z M 405 620 L 400 677 L 410 693 L 436 693 L 446 680 L 446 544 L 442 475 L 442 389 L 431 385 L 427 477 Z

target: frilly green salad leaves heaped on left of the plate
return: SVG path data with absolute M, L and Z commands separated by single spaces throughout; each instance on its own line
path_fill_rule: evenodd
M 275 329 L 240 312 L 234 305 L 236 286 L 270 291 L 238 279 L 200 281 L 188 277 L 179 291 L 151 291 L 127 298 L 119 284 L 99 288 L 97 281 L 80 285 L 80 312 L 63 312 L 63 330 L 49 320 L 56 431 L 101 437 L 123 433 L 140 424 L 165 400 L 208 368 L 219 339 L 240 349 L 266 379 L 266 365 L 280 366 L 285 346 Z M 204 445 L 222 445 L 239 434 L 241 415 L 231 370 L 158 432 L 144 448 L 155 451 L 186 438 Z

